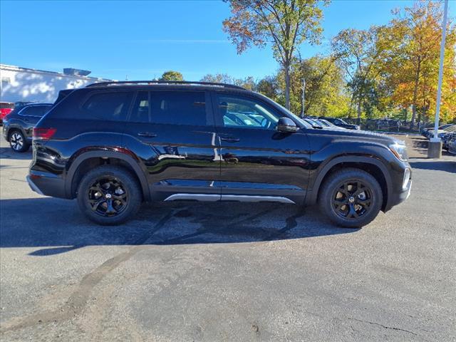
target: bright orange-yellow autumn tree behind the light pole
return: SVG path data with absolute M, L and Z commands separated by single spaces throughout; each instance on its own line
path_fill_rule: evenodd
M 439 2 L 417 1 L 394 14 L 391 37 L 399 43 L 388 63 L 388 81 L 394 88 L 392 100 L 402 108 L 411 105 L 413 127 L 417 115 L 418 121 L 427 120 L 435 108 L 442 9 Z M 456 30 L 450 21 L 447 25 L 441 113 L 444 120 L 451 120 L 456 111 Z

